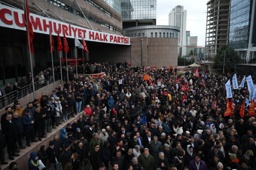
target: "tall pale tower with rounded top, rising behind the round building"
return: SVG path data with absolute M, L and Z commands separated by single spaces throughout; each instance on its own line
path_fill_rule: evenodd
M 178 35 L 178 44 L 186 45 L 186 23 L 187 23 L 187 10 L 183 9 L 183 6 L 175 6 L 172 11 L 169 12 L 169 26 L 180 27 Z

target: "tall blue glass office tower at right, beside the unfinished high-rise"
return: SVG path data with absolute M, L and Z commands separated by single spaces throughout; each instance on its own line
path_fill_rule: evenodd
M 248 48 L 253 0 L 231 0 L 229 46 Z

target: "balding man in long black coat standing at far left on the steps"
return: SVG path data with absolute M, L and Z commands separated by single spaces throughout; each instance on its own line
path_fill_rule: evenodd
M 13 156 L 20 156 L 20 155 L 15 153 L 16 141 L 18 140 L 18 135 L 17 135 L 17 128 L 15 125 L 15 122 L 12 121 L 12 114 L 8 113 L 6 115 L 6 119 L 2 124 L 2 131 L 5 136 L 9 159 L 14 160 Z

